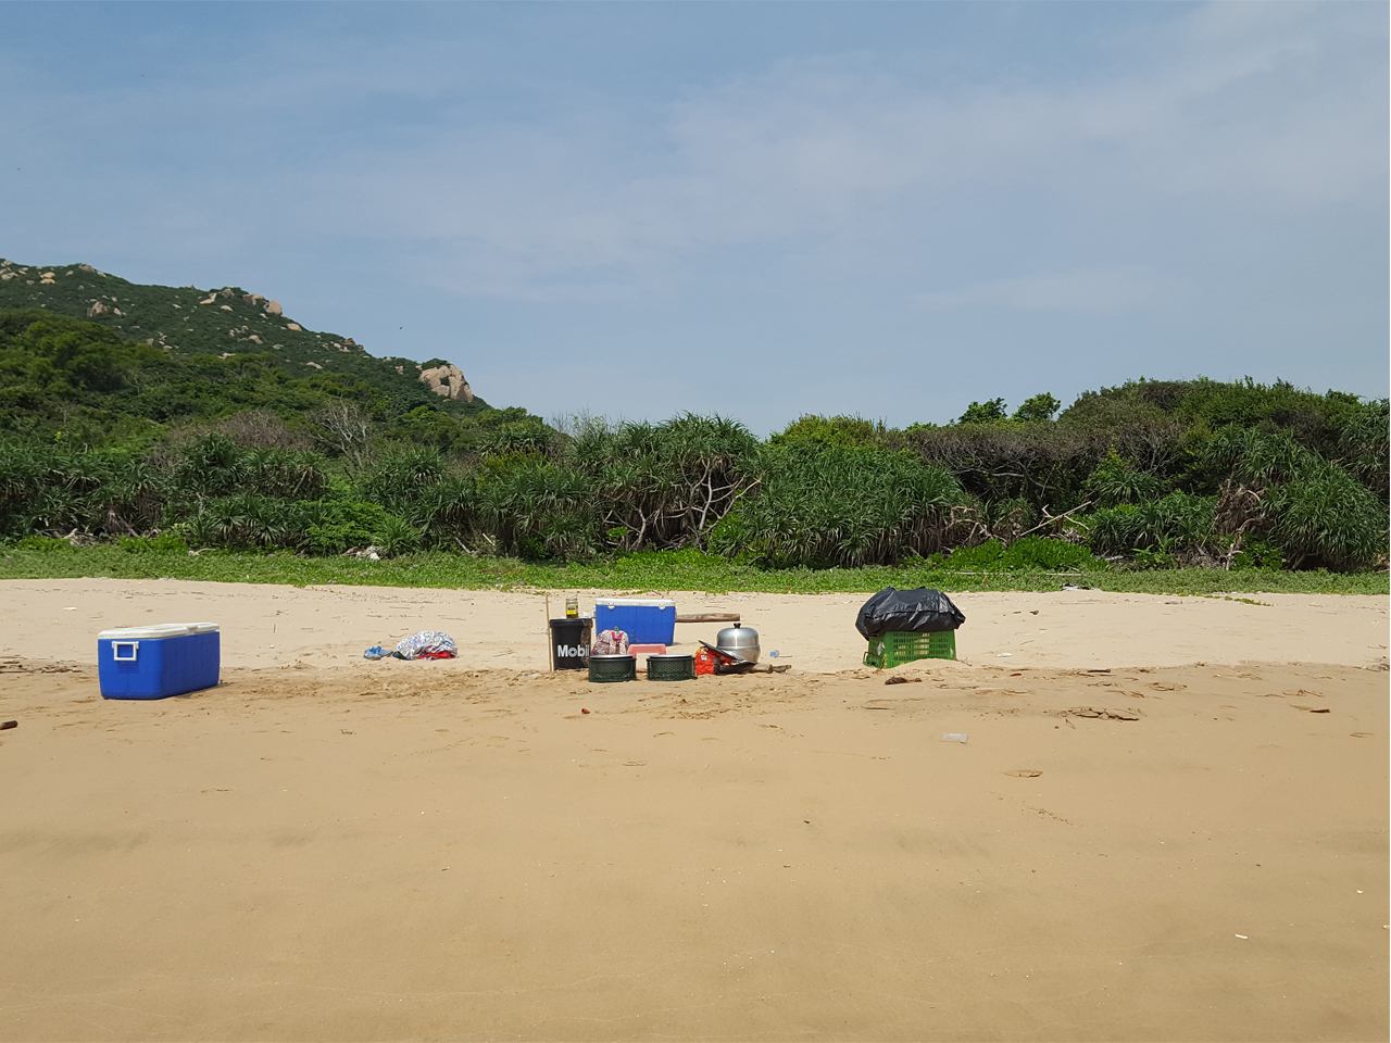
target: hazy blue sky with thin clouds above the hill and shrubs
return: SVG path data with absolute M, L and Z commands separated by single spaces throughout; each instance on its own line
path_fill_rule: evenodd
M 1385 4 L 0 4 L 0 254 L 548 419 L 1387 394 Z

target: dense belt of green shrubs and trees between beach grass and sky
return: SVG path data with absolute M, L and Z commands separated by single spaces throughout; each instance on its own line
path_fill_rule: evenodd
M 1141 380 L 1057 420 L 1040 394 L 904 430 L 803 416 L 759 442 L 718 416 L 445 410 L 281 362 L 0 312 L 0 540 L 565 562 L 684 548 L 817 569 L 942 555 L 965 572 L 1387 556 L 1385 399 Z

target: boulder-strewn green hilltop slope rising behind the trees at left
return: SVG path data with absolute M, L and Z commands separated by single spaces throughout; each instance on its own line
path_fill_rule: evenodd
M 421 382 L 424 370 L 448 366 L 441 359 L 378 359 L 351 337 L 302 328 L 277 302 L 241 286 L 142 285 L 90 264 L 24 266 L 0 260 L 0 309 L 40 309 L 85 318 L 174 357 L 270 355 L 294 377 L 348 374 L 371 387 L 391 414 L 423 406 L 466 417 L 488 409 L 466 384 L 451 398 Z

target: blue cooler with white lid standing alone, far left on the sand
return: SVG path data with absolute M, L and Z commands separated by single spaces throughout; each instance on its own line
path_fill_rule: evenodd
M 217 623 L 161 623 L 96 636 L 97 679 L 107 700 L 163 700 L 217 684 Z

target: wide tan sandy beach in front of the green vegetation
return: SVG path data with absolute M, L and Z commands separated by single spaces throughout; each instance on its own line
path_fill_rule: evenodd
M 1385 598 L 963 594 L 958 662 L 876 672 L 862 595 L 672 597 L 791 669 L 552 674 L 530 592 L 0 583 L 0 1037 L 1387 1037 Z M 100 698 L 97 630 L 182 620 L 223 684 Z M 420 629 L 460 658 L 362 658 Z

